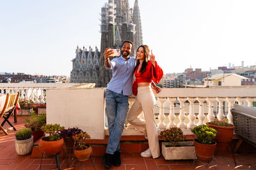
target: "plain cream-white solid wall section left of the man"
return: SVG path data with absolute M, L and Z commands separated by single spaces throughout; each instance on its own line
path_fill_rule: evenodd
M 79 127 L 92 139 L 104 139 L 104 89 L 49 89 L 47 124 Z

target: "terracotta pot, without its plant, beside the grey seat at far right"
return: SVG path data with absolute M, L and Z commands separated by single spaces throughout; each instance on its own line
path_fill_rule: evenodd
M 209 127 L 212 127 L 216 131 L 218 131 L 218 134 L 216 134 L 214 141 L 217 142 L 217 148 L 218 150 L 226 150 L 227 146 L 230 145 L 230 142 L 232 140 L 232 136 L 234 134 L 235 126 L 233 127 L 223 127 L 218 125 L 211 125 L 209 123 L 206 123 L 209 125 Z

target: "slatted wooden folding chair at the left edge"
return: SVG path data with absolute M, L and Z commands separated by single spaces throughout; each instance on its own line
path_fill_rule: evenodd
M 8 134 L 4 129 L 3 125 L 5 122 L 7 122 L 11 127 L 13 127 L 13 130 L 16 131 L 15 127 L 9 122 L 8 118 L 12 115 L 12 113 L 15 111 L 15 107 L 19 100 L 19 92 L 14 94 L 6 94 L 5 103 L 3 106 L 3 110 L 0 111 L 0 118 L 3 117 L 4 121 L 0 125 L 0 129 L 4 132 L 4 134 Z

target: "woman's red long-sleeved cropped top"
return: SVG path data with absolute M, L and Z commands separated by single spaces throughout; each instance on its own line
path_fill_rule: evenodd
M 153 80 L 155 83 L 159 83 L 161 78 L 163 77 L 163 70 L 161 67 L 158 66 L 157 62 L 155 62 L 155 67 L 152 65 L 150 60 L 148 60 L 147 66 L 145 68 L 145 71 L 143 74 L 141 72 L 137 73 L 138 67 L 136 67 L 134 76 L 136 77 L 136 80 L 132 83 L 132 94 L 134 96 L 137 95 L 138 91 L 138 83 L 151 83 Z

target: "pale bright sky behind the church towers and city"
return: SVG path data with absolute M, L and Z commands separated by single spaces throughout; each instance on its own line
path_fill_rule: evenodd
M 0 2 L 0 72 L 70 76 L 77 45 L 100 48 L 108 0 Z M 138 2 L 143 43 L 164 73 L 256 65 L 255 0 Z

